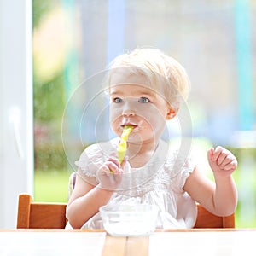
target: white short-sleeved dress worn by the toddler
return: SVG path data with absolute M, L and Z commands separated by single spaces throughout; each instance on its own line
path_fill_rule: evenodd
M 119 139 L 108 143 L 90 145 L 81 154 L 77 174 L 84 180 L 95 177 L 97 171 L 111 152 L 116 152 Z M 162 140 L 155 149 L 148 164 L 140 168 L 125 168 L 119 190 L 114 192 L 108 204 L 153 204 L 160 213 L 157 228 L 172 229 L 192 228 L 197 217 L 195 201 L 183 190 L 189 174 L 195 169 L 195 163 L 178 152 L 171 151 Z M 82 229 L 102 229 L 100 213 L 96 213 Z

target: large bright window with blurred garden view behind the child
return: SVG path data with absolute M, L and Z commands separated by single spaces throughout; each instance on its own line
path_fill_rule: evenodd
M 98 87 L 102 74 L 114 56 L 137 46 L 162 49 L 187 69 L 195 143 L 202 150 L 208 144 L 229 147 L 243 163 L 244 151 L 233 142 L 238 139 L 236 131 L 242 131 L 243 139 L 243 131 L 252 131 L 249 141 L 255 134 L 255 7 L 252 1 L 34 0 L 35 177 L 38 188 L 44 184 L 42 194 L 36 188 L 36 197 L 49 191 L 52 200 L 66 200 L 57 182 L 65 190 L 73 162 L 83 148 L 101 138 L 94 122 L 101 119 L 102 133 L 108 137 L 110 132 L 108 109 Z M 84 113 L 85 108 L 91 113 Z M 247 167 L 252 172 L 248 176 L 243 170 L 236 172 L 239 188 L 256 180 L 255 144 L 249 150 Z M 46 174 L 49 177 L 42 183 Z M 242 212 L 238 223 L 243 226 L 256 225 L 253 216 L 252 223 L 246 222 L 246 212 L 255 216 L 256 211 L 255 186 L 250 188 L 241 189 L 246 195 L 237 210 L 237 216 Z M 54 198 L 58 191 L 60 197 Z M 246 206 L 251 211 L 243 210 Z

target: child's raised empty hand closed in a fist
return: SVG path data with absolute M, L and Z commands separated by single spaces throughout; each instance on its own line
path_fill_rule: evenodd
M 237 160 L 229 150 L 218 146 L 210 148 L 207 152 L 212 172 L 221 177 L 228 177 L 236 170 Z

